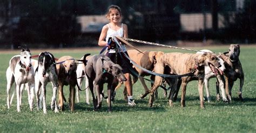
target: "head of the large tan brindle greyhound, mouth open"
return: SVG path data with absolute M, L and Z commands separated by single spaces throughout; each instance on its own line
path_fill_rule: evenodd
M 218 73 L 219 68 L 221 67 L 219 63 L 219 58 L 214 53 L 205 52 L 198 56 L 198 65 L 201 66 L 208 66 L 211 68 L 212 72 L 215 74 Z M 220 73 L 223 73 L 219 70 Z

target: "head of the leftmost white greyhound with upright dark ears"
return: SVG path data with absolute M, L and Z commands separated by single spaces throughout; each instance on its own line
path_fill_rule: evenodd
M 18 47 L 21 48 L 21 63 L 25 65 L 26 70 L 30 70 L 30 67 L 32 66 L 31 64 L 31 53 L 29 48 L 22 48 L 22 47 Z

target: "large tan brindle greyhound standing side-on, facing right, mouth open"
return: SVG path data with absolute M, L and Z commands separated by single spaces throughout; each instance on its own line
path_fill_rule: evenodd
M 198 80 L 198 91 L 200 96 L 200 106 L 204 108 L 204 99 L 203 99 L 203 83 L 205 76 L 205 66 L 211 67 L 211 70 L 217 73 L 217 69 L 220 67 L 218 62 L 217 55 L 213 53 L 204 53 L 204 54 L 188 54 L 188 53 L 166 53 L 161 56 L 159 62 L 156 63 L 154 70 L 156 73 L 169 73 L 174 75 L 184 75 L 185 73 L 191 73 L 190 76 L 181 77 L 181 107 L 185 107 L 185 94 L 187 83 L 191 80 Z M 165 67 L 169 67 L 169 71 L 165 71 Z M 171 88 L 175 88 L 177 85 L 177 78 L 173 78 L 172 81 L 169 80 Z M 154 101 L 154 91 L 161 85 L 163 82 L 163 77 L 156 76 L 154 85 L 150 94 L 149 106 L 152 107 Z M 172 82 L 172 83 L 170 83 Z M 173 106 L 173 94 L 175 89 L 171 90 L 169 96 L 169 104 Z

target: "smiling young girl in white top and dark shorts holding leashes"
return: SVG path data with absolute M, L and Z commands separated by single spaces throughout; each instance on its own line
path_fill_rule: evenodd
M 128 28 L 126 24 L 120 23 L 122 19 L 121 9 L 117 5 L 111 5 L 107 9 L 106 18 L 110 20 L 109 24 L 106 24 L 102 28 L 102 32 L 99 36 L 99 46 L 107 46 L 107 41 L 111 36 L 118 35 L 124 38 L 128 38 Z M 121 49 L 122 48 L 122 49 Z M 126 47 L 124 45 L 121 45 L 121 48 L 119 48 L 118 52 L 125 52 L 126 55 Z M 122 54 L 123 55 L 123 54 Z M 111 61 L 114 63 L 119 64 L 123 68 L 123 72 L 125 75 L 125 78 L 127 79 L 125 82 L 126 88 L 127 88 L 127 99 L 128 99 L 128 105 L 129 106 L 135 106 L 134 100 L 132 99 L 132 83 L 131 83 L 131 76 L 129 71 L 129 66 L 127 64 L 130 64 L 130 61 L 127 60 L 125 56 L 120 57 L 120 53 L 117 53 L 116 57 L 116 50 L 114 49 L 108 49 L 108 57 L 110 57 Z

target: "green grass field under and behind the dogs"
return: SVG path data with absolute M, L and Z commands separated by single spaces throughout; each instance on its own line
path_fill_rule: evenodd
M 229 46 L 192 47 L 191 49 L 210 49 L 214 52 L 224 52 Z M 167 52 L 181 51 L 170 48 L 139 48 L 142 50 L 161 50 Z M 81 49 L 31 49 L 32 55 L 41 51 L 50 51 L 55 57 L 70 55 L 75 58 L 85 53 L 99 53 L 99 48 Z M 85 92 L 80 92 L 80 102 L 75 105 L 75 112 L 71 113 L 65 103 L 63 112 L 54 113 L 50 109 L 52 95 L 51 84 L 46 89 L 46 104 L 48 114 L 43 110 L 30 112 L 28 97 L 23 92 L 23 106 L 17 113 L 16 96 L 10 109 L 6 106 L 6 77 L 5 71 L 12 56 L 19 54 L 19 50 L 0 51 L 0 132 L 255 132 L 256 131 L 256 46 L 241 45 L 240 61 L 245 73 L 243 87 L 244 102 L 238 100 L 239 80 L 232 90 L 233 101 L 225 104 L 215 101 L 215 79 L 210 80 L 212 102 L 205 102 L 205 108 L 200 108 L 197 82 L 190 82 L 186 92 L 186 107 L 180 106 L 180 94 L 174 107 L 169 107 L 163 90 L 159 88 L 157 99 L 152 108 L 148 107 L 149 97 L 140 99 L 143 93 L 141 83 L 133 86 L 133 97 L 136 107 L 128 107 L 123 100 L 123 87 L 117 91 L 116 102 L 112 105 L 113 112 L 107 112 L 106 100 L 98 112 L 93 112 L 92 105 L 86 105 Z M 190 52 L 190 51 L 181 51 Z M 150 83 L 147 83 L 148 85 Z M 84 87 L 83 87 L 84 88 Z M 14 89 L 13 89 L 14 90 Z M 68 87 L 64 88 L 68 98 Z M 205 92 L 205 91 L 204 91 Z M 206 95 L 206 94 L 204 94 Z

